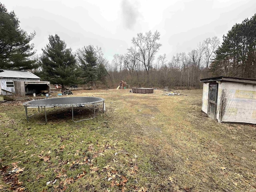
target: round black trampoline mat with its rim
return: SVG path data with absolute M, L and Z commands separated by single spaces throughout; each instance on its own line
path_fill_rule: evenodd
M 24 103 L 24 106 L 68 106 L 81 104 L 94 104 L 103 102 L 100 97 L 60 97 L 32 100 Z

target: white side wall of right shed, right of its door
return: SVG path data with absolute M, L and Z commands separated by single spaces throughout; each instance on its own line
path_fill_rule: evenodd
M 220 122 L 256 124 L 256 85 L 221 82 L 216 118 Z

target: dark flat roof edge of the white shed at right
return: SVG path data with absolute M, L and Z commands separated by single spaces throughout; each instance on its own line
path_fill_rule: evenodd
M 200 82 L 213 82 L 213 81 L 224 81 L 224 82 L 238 82 L 238 83 L 249 83 L 256 84 L 256 79 L 238 78 L 238 77 L 212 77 L 206 79 L 200 79 Z

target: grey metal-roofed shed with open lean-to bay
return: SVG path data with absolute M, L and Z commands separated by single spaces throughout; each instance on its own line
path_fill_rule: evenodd
M 40 77 L 29 71 L 0 69 L 0 95 L 10 92 L 19 96 L 50 93 L 50 82 L 40 81 Z

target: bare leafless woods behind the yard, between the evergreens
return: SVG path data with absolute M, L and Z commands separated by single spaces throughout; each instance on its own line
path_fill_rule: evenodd
M 137 34 L 126 54 L 114 55 L 112 63 L 107 66 L 108 79 L 111 82 L 122 79 L 131 86 L 139 87 L 199 88 L 200 78 L 210 75 L 208 68 L 220 40 L 217 37 L 207 38 L 189 53 L 177 53 L 170 61 L 163 54 L 153 62 L 161 46 L 159 40 L 158 31 Z

